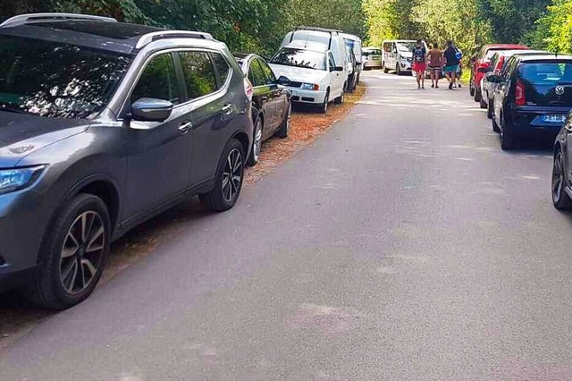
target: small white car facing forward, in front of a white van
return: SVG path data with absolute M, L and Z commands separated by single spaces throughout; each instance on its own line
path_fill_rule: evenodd
M 324 44 L 293 41 L 273 56 L 270 67 L 276 75 L 290 79 L 292 102 L 318 106 L 326 114 L 332 99 L 337 104 L 344 101 L 344 68 L 336 66 Z

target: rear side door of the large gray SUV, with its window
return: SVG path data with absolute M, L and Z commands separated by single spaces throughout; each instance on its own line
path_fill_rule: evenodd
M 223 55 L 189 49 L 178 56 L 193 122 L 190 188 L 197 189 L 214 179 L 223 148 L 231 138 L 229 127 L 237 107 L 228 90 L 231 66 Z

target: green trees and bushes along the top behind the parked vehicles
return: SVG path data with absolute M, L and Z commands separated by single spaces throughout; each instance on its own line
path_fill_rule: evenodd
M 425 38 L 441 45 L 452 39 L 466 52 L 485 42 L 572 52 L 572 0 L 5 0 L 0 20 L 31 12 L 203 30 L 235 52 L 266 57 L 301 25 L 344 30 L 376 47 L 385 38 Z

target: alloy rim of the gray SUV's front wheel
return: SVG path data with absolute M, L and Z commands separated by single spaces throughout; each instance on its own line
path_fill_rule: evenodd
M 101 266 L 105 250 L 105 225 L 93 211 L 78 216 L 63 240 L 60 282 L 71 295 L 84 291 Z

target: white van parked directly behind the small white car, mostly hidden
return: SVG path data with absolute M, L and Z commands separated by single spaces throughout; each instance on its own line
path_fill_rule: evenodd
M 340 35 L 341 30 L 327 30 L 324 28 L 315 27 L 299 27 L 296 30 L 288 32 L 286 37 L 282 40 L 280 47 L 287 47 L 293 41 L 307 41 L 317 42 L 324 44 L 327 50 L 330 50 L 333 55 L 336 66 L 342 66 L 344 71 L 342 76 L 345 76 L 344 81 L 348 81 L 348 53 L 346 43 Z

